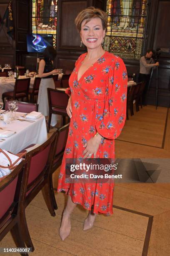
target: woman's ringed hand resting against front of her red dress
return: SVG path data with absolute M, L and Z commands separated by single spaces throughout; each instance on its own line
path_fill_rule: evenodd
M 100 145 L 102 136 L 94 136 L 93 138 L 90 138 L 89 141 L 85 144 L 84 147 L 85 150 L 83 151 L 84 158 L 91 158 L 91 156 L 94 154 L 94 158 L 96 158 L 96 153 L 98 150 L 98 147 Z

